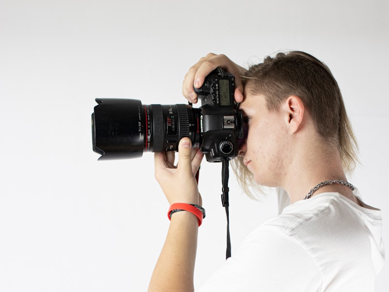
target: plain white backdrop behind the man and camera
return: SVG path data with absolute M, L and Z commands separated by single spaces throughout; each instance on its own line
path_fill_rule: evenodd
M 168 228 L 153 154 L 97 162 L 97 97 L 185 103 L 209 52 L 247 66 L 302 50 L 334 73 L 360 146 L 349 180 L 382 209 L 389 247 L 387 0 L 0 0 L 0 291 L 145 291 Z M 195 286 L 225 256 L 221 165 L 200 173 L 207 218 Z M 230 175 L 232 254 L 274 195 L 252 201 Z M 352 243 L 351 243 L 352 244 Z M 377 277 L 388 291 L 389 268 Z

